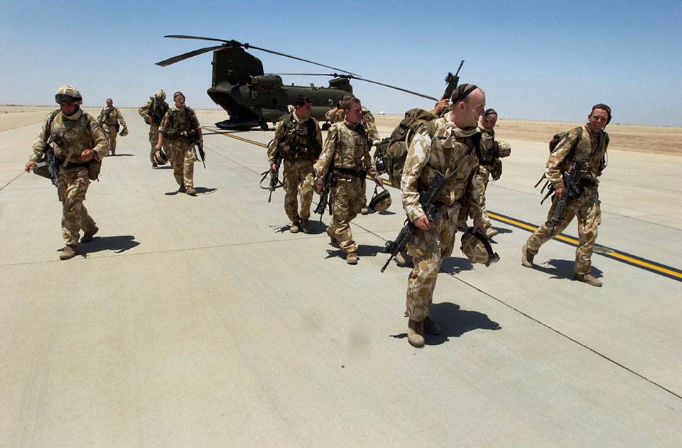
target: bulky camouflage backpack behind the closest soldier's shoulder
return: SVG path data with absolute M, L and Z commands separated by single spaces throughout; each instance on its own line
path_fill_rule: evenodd
M 381 159 L 384 162 L 384 169 L 379 169 L 380 164 L 377 164 L 377 171 L 386 171 L 391 185 L 400 188 L 400 178 L 403 176 L 407 149 L 412 139 L 422 126 L 426 126 L 429 137 L 433 137 L 436 118 L 438 117 L 428 110 L 408 110 L 405 112 L 405 118 L 391 132 L 391 136 L 379 142 L 377 145 L 377 161 Z

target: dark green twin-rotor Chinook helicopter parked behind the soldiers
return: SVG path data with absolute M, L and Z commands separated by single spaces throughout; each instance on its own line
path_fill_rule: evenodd
M 293 99 L 297 95 L 307 95 L 310 97 L 313 100 L 313 117 L 324 122 L 326 121 L 325 114 L 333 107 L 336 107 L 344 95 L 352 94 L 351 79 L 371 82 L 428 100 L 438 101 L 437 98 L 422 95 L 418 92 L 361 78 L 359 75 L 347 70 L 278 53 L 266 48 L 259 48 L 249 43 L 198 36 L 172 35 L 164 37 L 222 42 L 217 46 L 199 48 L 198 50 L 156 63 L 156 65 L 166 67 L 181 60 L 213 51 L 213 79 L 211 87 L 206 92 L 215 104 L 222 107 L 229 114 L 229 119 L 216 123 L 216 126 L 221 129 L 251 129 L 259 126 L 261 129 L 267 130 L 268 122 L 276 123 L 285 114 L 288 114 L 288 105 L 293 104 Z M 332 79 L 329 81 L 329 87 L 283 85 L 281 76 L 264 73 L 261 60 L 245 51 L 249 49 L 261 50 L 285 58 L 301 60 L 342 73 L 284 73 L 284 75 L 330 76 Z

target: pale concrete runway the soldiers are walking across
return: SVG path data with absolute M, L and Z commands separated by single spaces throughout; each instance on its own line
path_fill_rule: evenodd
M 455 247 L 432 308 L 443 334 L 416 349 L 410 270 L 379 272 L 397 190 L 352 223 L 350 266 L 324 225 L 288 232 L 283 192 L 258 187 L 263 147 L 205 129 L 199 194 L 176 194 L 122 112 L 130 134 L 85 201 L 99 233 L 68 261 L 56 189 L 23 172 L 46 112 L 0 117 L 0 447 L 680 446 L 681 158 L 609 151 L 602 288 L 573 281 L 575 247 L 556 240 L 521 267 L 529 230 L 507 221 L 497 264 Z M 538 225 L 546 144 L 510 143 L 489 211 Z

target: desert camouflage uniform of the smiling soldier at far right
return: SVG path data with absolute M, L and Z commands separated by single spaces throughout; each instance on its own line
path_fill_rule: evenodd
M 589 274 L 592 263 L 592 250 L 595 248 L 595 240 L 597 240 L 597 227 L 602 222 L 602 213 L 600 209 L 599 192 L 597 186 L 599 181 L 597 176 L 601 175 L 600 164 L 604 156 L 607 143 L 605 132 L 592 135 L 590 128 L 585 125 L 583 127 L 583 138 L 575 148 L 573 159 L 566 160 L 570 147 L 578 138 L 578 132 L 571 129 L 568 134 L 561 139 L 556 145 L 556 148 L 549 156 L 546 166 L 546 176 L 552 183 L 556 190 L 563 188 L 563 176 L 561 170 L 570 172 L 570 164 L 574 160 L 583 161 L 582 169 L 580 169 L 580 183 L 583 184 L 583 193 L 577 199 L 570 199 L 566 205 L 565 218 L 557 225 L 553 226 L 549 219 L 554 213 L 558 198 L 555 197 L 549 213 L 547 214 L 547 221 L 543 223 L 526 241 L 526 249 L 533 255 L 538 253 L 540 246 L 550 240 L 554 235 L 558 235 L 568 226 L 573 216 L 578 217 L 578 248 L 575 250 L 575 273 Z M 554 230 L 552 231 L 552 228 Z

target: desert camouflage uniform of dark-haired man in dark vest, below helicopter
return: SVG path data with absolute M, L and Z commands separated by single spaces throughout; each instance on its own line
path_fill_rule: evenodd
M 308 120 L 311 120 L 310 123 Z M 291 136 L 287 139 L 287 125 L 293 124 Z M 308 127 L 315 128 L 312 148 L 308 147 Z M 298 137 L 297 137 L 298 136 Z M 310 218 L 310 204 L 313 202 L 313 164 L 322 151 L 322 132 L 320 124 L 313 117 L 299 119 L 291 112 L 289 116 L 277 123 L 275 137 L 268 147 L 270 165 L 275 163 L 275 154 L 281 151 L 283 156 L 284 211 L 292 223 Z M 301 195 L 301 213 L 298 213 L 297 193 Z

